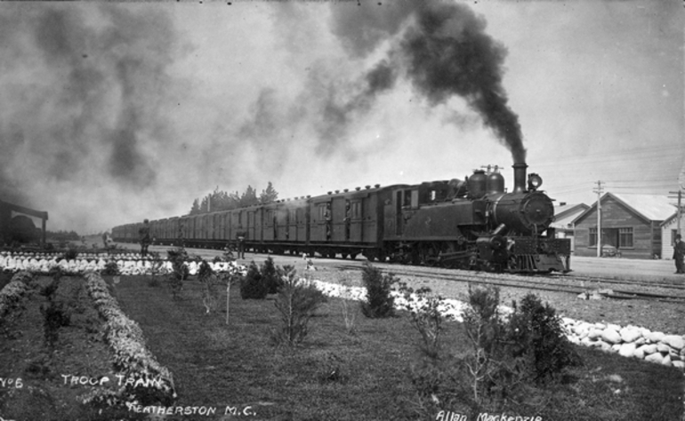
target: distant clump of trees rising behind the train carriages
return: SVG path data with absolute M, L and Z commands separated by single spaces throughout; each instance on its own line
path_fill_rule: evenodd
M 262 190 L 262 194 L 257 195 L 257 190 L 252 186 L 247 186 L 243 194 L 238 191 L 228 193 L 219 190 L 217 186 L 214 192 L 200 199 L 195 199 L 190 208 L 190 215 L 197 213 L 207 213 L 214 211 L 228 211 L 231 209 L 244 208 L 255 204 L 266 204 L 275 202 L 278 199 L 278 192 L 273 188 L 271 182 Z

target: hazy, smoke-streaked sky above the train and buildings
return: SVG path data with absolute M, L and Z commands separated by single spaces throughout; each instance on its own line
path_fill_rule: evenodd
M 91 234 L 515 162 L 557 203 L 668 195 L 683 27 L 675 0 L 2 3 L 0 199 Z

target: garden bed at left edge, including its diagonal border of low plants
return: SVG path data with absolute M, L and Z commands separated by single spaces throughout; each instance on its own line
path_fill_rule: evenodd
M 48 323 L 58 315 L 66 322 Z M 128 412 L 124 402 L 177 398 L 171 372 L 149 352 L 100 274 L 14 274 L 0 290 L 0 326 L 4 417 L 121 419 L 114 416 Z

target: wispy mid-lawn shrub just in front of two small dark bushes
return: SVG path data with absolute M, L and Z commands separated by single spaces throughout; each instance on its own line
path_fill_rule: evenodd
M 281 314 L 283 328 L 275 335 L 277 343 L 297 345 L 307 336 L 307 323 L 319 306 L 326 302 L 326 296 L 314 285 L 298 279 L 292 269 L 283 278 L 278 290 L 276 308 Z

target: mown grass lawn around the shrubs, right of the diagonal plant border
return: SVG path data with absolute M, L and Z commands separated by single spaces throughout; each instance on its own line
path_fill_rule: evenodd
M 357 334 L 351 336 L 342 302 L 330 298 L 310 321 L 303 345 L 290 349 L 270 339 L 280 324 L 273 300 L 243 300 L 234 287 L 227 326 L 225 309 L 205 314 L 200 294 L 199 282 L 191 279 L 181 299 L 173 300 L 164 283 L 152 286 L 142 276 L 121 278 L 113 292 L 125 314 L 140 323 L 157 360 L 173 372 L 178 405 L 214 407 L 217 413 L 247 409 L 250 419 L 436 419 L 440 409 L 465 414 L 465 407 L 441 408 L 418 398 L 409 369 L 419 361 L 420 339 L 405 314 L 386 320 L 358 314 Z M 222 300 L 225 306 L 225 292 Z M 461 325 L 445 326 L 443 353 L 465 351 Z M 527 412 L 507 415 L 681 419 L 683 377 L 677 369 L 578 351 L 584 366 L 560 384 L 531 389 L 530 399 L 518 407 Z M 468 419 L 477 416 L 470 413 Z

